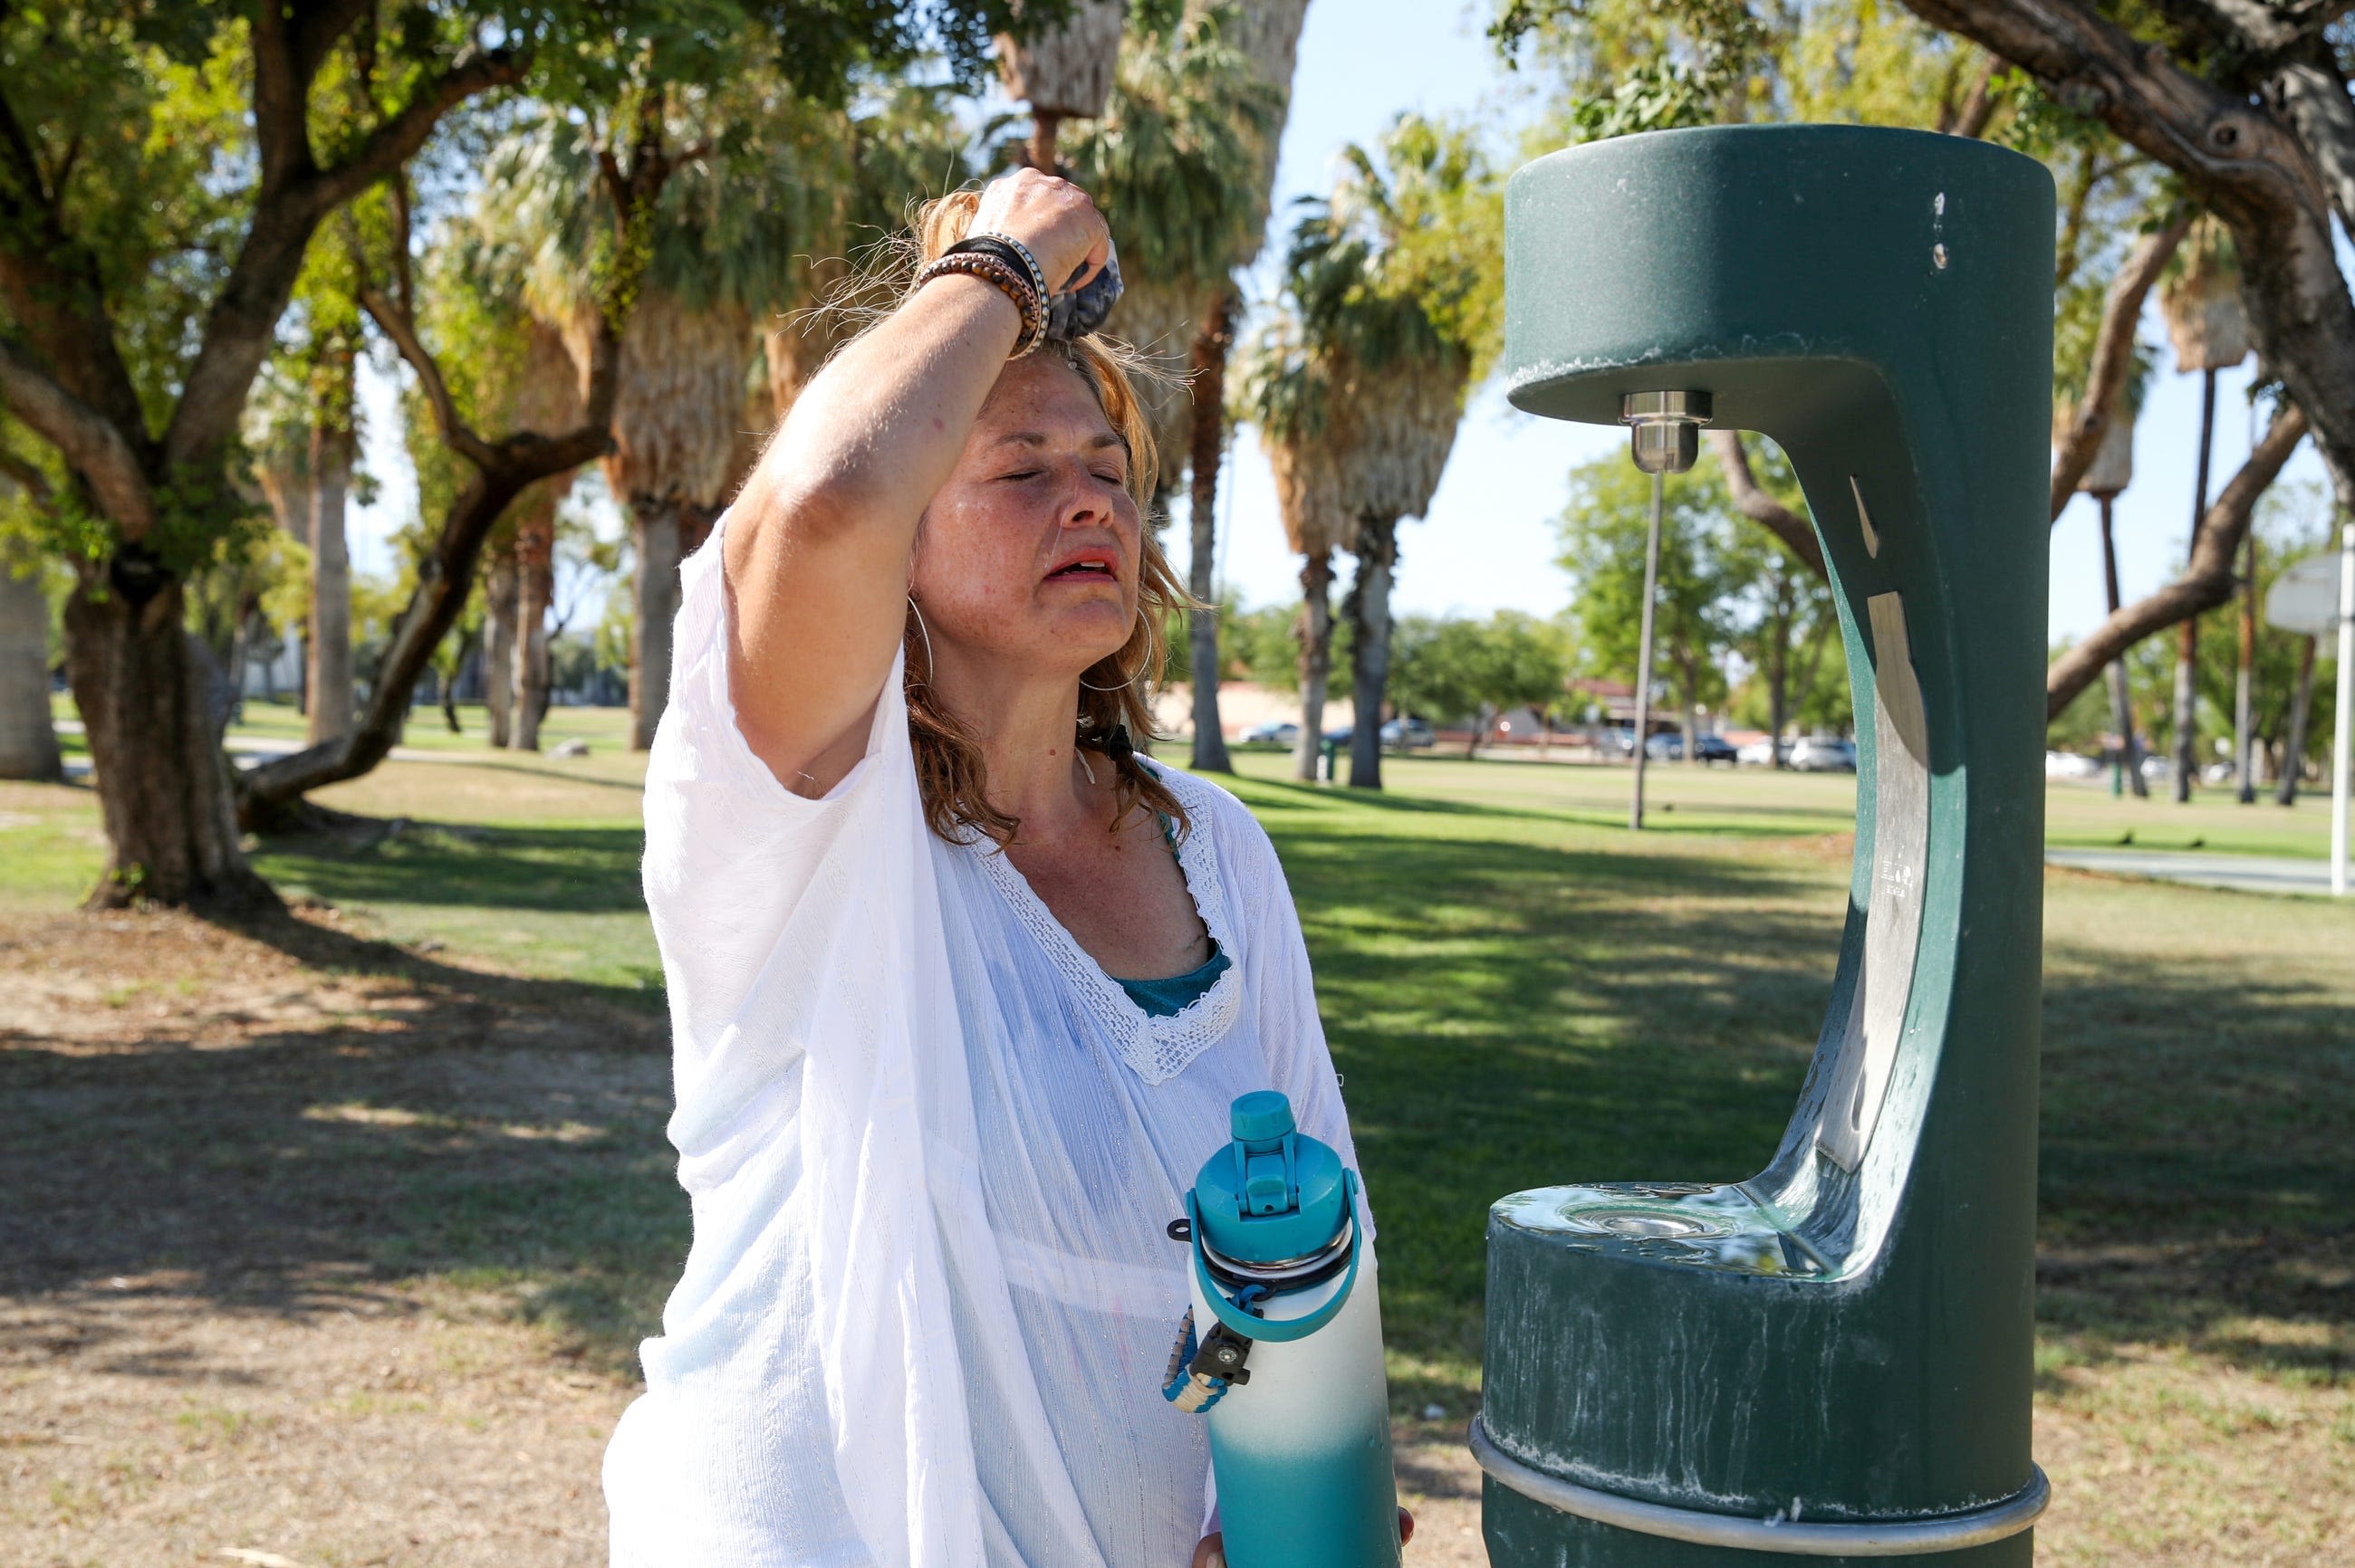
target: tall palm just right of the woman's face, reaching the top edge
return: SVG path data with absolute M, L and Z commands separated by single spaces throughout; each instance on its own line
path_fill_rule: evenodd
M 1258 179 L 1281 132 L 1283 94 L 1236 52 L 1229 7 L 1178 28 L 1140 33 L 1121 52 L 1104 115 L 1069 151 L 1072 177 L 1112 224 L 1128 292 L 1114 327 L 1166 372 L 1147 386 L 1161 452 L 1156 518 L 1178 480 L 1178 454 L 1194 471 L 1187 589 L 1218 598 L 1218 459 L 1222 445 L 1227 346 L 1234 337 L 1234 268 L 1258 254 L 1267 195 Z M 1218 617 L 1189 617 L 1194 683 L 1194 768 L 1229 772 L 1218 718 Z

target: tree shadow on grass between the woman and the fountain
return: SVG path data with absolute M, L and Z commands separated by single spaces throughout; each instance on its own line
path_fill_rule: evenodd
M 1773 1154 L 1830 996 L 1839 866 L 1269 822 L 1382 1234 L 1392 1349 L 1458 1401 L 1486 1215 L 1568 1180 L 1736 1180 Z

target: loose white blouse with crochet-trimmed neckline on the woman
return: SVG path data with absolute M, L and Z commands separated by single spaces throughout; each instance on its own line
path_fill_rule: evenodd
M 612 1561 L 1185 1568 L 1208 1450 L 1161 1398 L 1166 1227 L 1248 1090 L 1356 1165 L 1274 848 L 1161 770 L 1232 965 L 1149 1017 L 987 838 L 926 826 L 897 666 L 822 800 L 754 758 L 723 537 L 645 777 L 695 1245 L 605 1455 Z

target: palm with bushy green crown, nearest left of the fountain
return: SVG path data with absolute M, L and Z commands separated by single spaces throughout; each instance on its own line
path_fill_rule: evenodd
M 1331 386 L 1326 440 L 1354 518 L 1349 784 L 1382 786 L 1389 589 L 1399 520 L 1446 471 L 1465 393 L 1500 339 L 1502 191 L 1472 134 L 1401 115 L 1342 153 L 1342 177 L 1293 233 L 1286 285 Z

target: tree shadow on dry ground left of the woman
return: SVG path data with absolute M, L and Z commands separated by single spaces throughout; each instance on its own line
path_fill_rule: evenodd
M 226 1048 L 170 1024 L 104 1055 L 0 1031 L 0 1295 L 125 1278 L 306 1318 L 412 1307 L 424 1281 L 631 1366 L 688 1243 L 662 1022 L 608 986 L 487 977 L 290 916 L 231 937 L 299 958 L 306 996 L 405 984 L 341 986 L 337 1010 Z M 0 1361 L 28 1349 L 0 1342 Z

